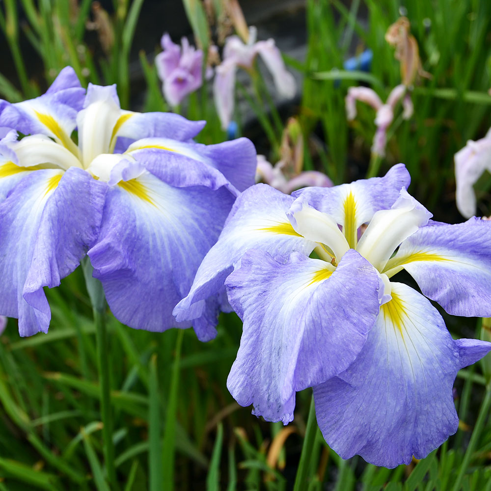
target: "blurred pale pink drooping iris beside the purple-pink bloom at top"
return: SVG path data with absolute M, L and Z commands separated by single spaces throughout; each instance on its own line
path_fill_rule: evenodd
M 280 95 L 291 99 L 295 96 L 297 84 L 293 75 L 285 68 L 281 53 L 273 39 L 256 42 L 256 28 L 249 27 L 249 39 L 245 44 L 239 36 L 230 36 L 223 48 L 223 61 L 215 70 L 213 94 L 223 130 L 228 128 L 234 112 L 235 72 L 238 67 L 249 70 L 254 59 L 260 55 Z

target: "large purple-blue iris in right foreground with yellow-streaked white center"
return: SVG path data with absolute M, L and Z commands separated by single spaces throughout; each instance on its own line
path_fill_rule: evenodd
M 408 185 L 399 164 L 292 196 L 249 188 L 174 309 L 192 319 L 225 284 L 244 321 L 228 377 L 239 404 L 287 424 L 296 392 L 313 387 L 329 446 L 386 467 L 456 432 L 457 372 L 491 349 L 453 340 L 430 301 L 392 279 L 405 269 L 448 313 L 490 316 L 491 223 L 432 221 Z

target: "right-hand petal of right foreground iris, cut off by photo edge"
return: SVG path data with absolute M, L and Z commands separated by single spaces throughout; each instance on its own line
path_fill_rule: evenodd
M 488 317 L 491 309 L 491 222 L 432 222 L 406 239 L 384 273 L 405 269 L 424 295 L 448 313 Z

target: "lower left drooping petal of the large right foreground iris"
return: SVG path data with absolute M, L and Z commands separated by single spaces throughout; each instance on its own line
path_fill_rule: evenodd
M 292 421 L 297 391 L 345 370 L 379 313 L 378 275 L 354 250 L 336 269 L 300 253 L 279 262 L 249 250 L 225 284 L 244 321 L 227 386 L 268 421 Z

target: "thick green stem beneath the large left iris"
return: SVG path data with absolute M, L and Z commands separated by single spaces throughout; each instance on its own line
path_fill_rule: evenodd
M 97 343 L 97 368 L 101 387 L 100 403 L 104 437 L 104 460 L 108 480 L 113 490 L 117 489 L 116 467 L 114 465 L 114 444 L 112 441 L 112 413 L 109 379 L 109 348 L 106 329 L 106 297 L 102 283 L 92 276 L 92 265 L 88 258 L 82 262 L 85 284 L 92 304 Z

